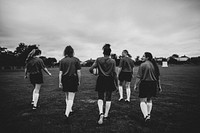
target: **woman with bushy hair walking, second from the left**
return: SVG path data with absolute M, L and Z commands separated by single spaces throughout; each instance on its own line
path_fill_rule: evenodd
M 63 89 L 66 96 L 66 121 L 69 119 L 69 114 L 72 112 L 75 92 L 78 91 L 78 86 L 81 80 L 81 65 L 78 58 L 74 57 L 74 49 L 67 46 L 64 50 L 64 58 L 60 61 L 59 72 L 59 88 Z

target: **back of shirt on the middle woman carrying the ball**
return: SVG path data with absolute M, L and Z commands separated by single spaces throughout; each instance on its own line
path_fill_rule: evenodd
M 109 57 L 100 57 L 96 60 L 96 65 L 99 69 L 100 76 L 114 76 L 115 75 L 115 60 Z

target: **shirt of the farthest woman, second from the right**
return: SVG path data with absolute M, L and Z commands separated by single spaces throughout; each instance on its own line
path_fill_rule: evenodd
M 129 57 L 123 57 L 120 60 L 119 67 L 122 68 L 122 72 L 133 72 L 134 61 Z

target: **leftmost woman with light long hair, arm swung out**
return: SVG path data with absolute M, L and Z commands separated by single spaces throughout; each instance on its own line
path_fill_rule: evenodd
M 39 99 L 39 92 L 41 88 L 41 84 L 43 83 L 43 74 L 42 69 L 51 76 L 51 73 L 45 67 L 42 59 L 39 58 L 41 55 L 41 50 L 33 49 L 27 59 L 26 59 L 26 66 L 25 66 L 25 78 L 27 78 L 27 74 L 29 73 L 29 78 L 31 84 L 34 86 L 33 96 L 32 96 L 32 109 L 37 109 L 37 103 Z

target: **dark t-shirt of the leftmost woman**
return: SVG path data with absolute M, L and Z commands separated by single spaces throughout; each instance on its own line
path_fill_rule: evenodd
M 41 70 L 45 68 L 45 65 L 42 59 L 34 57 L 26 64 L 26 68 L 28 73 L 38 74 L 42 73 Z

